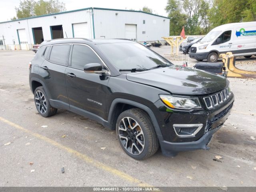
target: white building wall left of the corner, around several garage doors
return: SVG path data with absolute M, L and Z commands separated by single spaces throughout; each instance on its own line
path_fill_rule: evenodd
M 66 34 L 68 38 L 72 38 L 72 24 L 88 22 L 88 27 L 90 28 L 88 31 L 90 37 L 93 38 L 91 12 L 92 11 L 88 9 L 77 12 L 68 12 L 63 14 L 36 17 L 26 20 L 0 23 L 0 35 L 4 35 L 5 43 L 10 49 L 14 49 L 13 40 L 15 41 L 16 49 L 19 49 L 17 34 L 18 29 L 25 29 L 28 44 L 34 44 L 32 28 L 42 27 L 44 40 L 50 40 L 50 26 L 62 25 L 64 38 L 66 38 Z M 54 16 L 56 18 L 54 18 Z

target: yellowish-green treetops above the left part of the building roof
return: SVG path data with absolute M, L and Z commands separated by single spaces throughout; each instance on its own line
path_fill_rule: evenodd
M 23 0 L 15 7 L 18 19 L 65 11 L 65 4 L 59 0 Z M 16 19 L 16 17 L 14 17 Z M 12 18 L 12 19 L 14 19 Z

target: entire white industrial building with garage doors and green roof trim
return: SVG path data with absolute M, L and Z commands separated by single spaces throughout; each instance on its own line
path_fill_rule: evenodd
M 126 38 L 156 41 L 169 36 L 167 17 L 134 10 L 84 8 L 0 22 L 0 49 L 29 50 L 55 38 Z

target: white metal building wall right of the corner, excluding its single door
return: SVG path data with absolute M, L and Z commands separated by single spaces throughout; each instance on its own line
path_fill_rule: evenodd
M 137 41 L 161 40 L 169 36 L 170 20 L 167 18 L 140 12 L 94 10 L 95 38 L 125 38 L 125 24 L 137 25 Z

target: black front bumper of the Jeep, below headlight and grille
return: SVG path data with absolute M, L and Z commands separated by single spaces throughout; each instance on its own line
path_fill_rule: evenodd
M 163 106 L 158 106 L 162 110 L 161 126 L 162 135 L 158 135 L 162 153 L 166 156 L 175 156 L 177 152 L 188 150 L 208 150 L 214 133 L 218 131 L 230 114 L 233 106 L 234 95 L 222 107 L 216 110 L 195 110 L 190 112 L 164 111 Z M 160 102 L 155 103 L 160 105 Z M 160 122 L 161 122 L 160 121 Z M 173 124 L 203 124 L 203 128 L 194 136 L 181 138 L 174 132 Z

